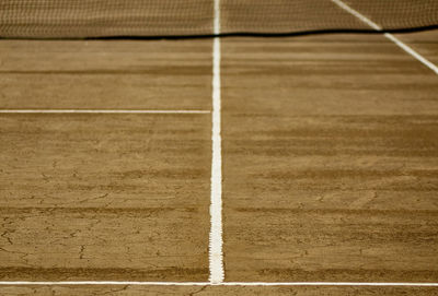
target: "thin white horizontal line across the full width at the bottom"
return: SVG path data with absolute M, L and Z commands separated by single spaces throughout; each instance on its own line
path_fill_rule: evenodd
M 411 286 L 435 287 L 438 283 L 366 283 L 366 282 L 118 282 L 118 281 L 71 281 L 71 282 L 0 282 L 0 285 L 136 285 L 136 286 Z

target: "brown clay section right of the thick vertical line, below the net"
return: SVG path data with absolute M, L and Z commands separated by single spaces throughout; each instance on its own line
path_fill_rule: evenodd
M 438 279 L 438 80 L 382 36 L 226 39 L 229 281 Z

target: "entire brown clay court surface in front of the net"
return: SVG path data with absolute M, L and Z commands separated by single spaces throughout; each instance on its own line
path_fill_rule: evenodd
M 438 64 L 438 31 L 396 36 Z M 0 114 L 0 281 L 209 281 L 212 47 L 210 38 L 0 40 L 0 109 L 12 110 Z M 220 52 L 224 283 L 437 283 L 437 73 L 382 35 L 228 37 Z M 0 294 L 438 287 L 1 285 Z

